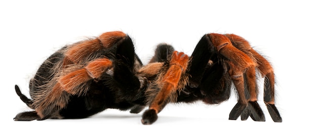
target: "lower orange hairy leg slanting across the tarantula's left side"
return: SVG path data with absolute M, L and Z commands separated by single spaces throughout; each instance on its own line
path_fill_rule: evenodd
M 61 76 L 50 94 L 47 94 L 45 101 L 35 108 L 37 114 L 43 118 L 54 113 L 52 110 L 59 110 L 67 105 L 68 95 L 85 95 L 88 89 L 78 88 L 91 79 L 99 79 L 102 73 L 112 66 L 111 60 L 107 58 L 96 59 L 85 66 Z M 68 94 L 64 94 L 64 91 Z M 51 108 L 49 108 L 51 107 Z

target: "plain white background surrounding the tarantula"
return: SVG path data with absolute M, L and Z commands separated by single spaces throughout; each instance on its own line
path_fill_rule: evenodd
M 6 135 L 316 135 L 316 6 L 313 1 L 8 1 L 0 2 L 1 133 Z M 120 30 L 133 38 L 147 63 L 166 42 L 190 55 L 206 33 L 234 33 L 269 57 L 278 84 L 274 123 L 228 120 L 236 102 L 171 104 L 152 125 L 141 115 L 106 110 L 86 119 L 13 121 L 29 110 L 15 94 L 28 95 L 38 66 L 65 44 Z M 259 103 L 263 106 L 263 96 Z

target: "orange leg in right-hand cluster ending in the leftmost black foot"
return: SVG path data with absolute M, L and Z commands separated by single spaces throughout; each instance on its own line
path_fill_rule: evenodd
M 235 86 L 239 100 L 229 114 L 230 120 L 235 120 L 248 106 L 245 96 L 244 72 L 256 63 L 247 54 L 234 47 L 229 38 L 222 34 L 211 33 L 208 35 L 219 55 L 222 55 L 224 63 L 228 67 L 228 74 Z

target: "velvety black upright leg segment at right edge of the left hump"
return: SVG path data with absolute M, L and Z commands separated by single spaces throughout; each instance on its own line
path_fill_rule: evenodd
M 113 79 L 119 87 L 118 95 L 127 100 L 136 100 L 141 83 L 136 73 L 142 66 L 142 62 L 137 58 L 134 51 L 134 45 L 130 37 L 126 37 L 121 44 L 117 45 L 115 52 L 115 61 L 113 61 Z M 111 85 L 110 85 L 111 86 Z

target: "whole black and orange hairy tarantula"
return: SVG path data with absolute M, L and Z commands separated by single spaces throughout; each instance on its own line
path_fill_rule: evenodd
M 31 99 L 15 86 L 21 100 L 34 111 L 21 112 L 14 120 L 85 118 L 107 108 L 139 113 L 149 106 L 142 123 L 151 124 L 170 102 L 203 100 L 216 104 L 227 100 L 233 82 L 239 101 L 229 119 L 241 115 L 243 120 L 251 116 L 264 121 L 256 102 L 258 69 L 265 77 L 264 101 L 273 120 L 281 122 L 274 106 L 270 64 L 243 38 L 226 36 L 205 35 L 191 57 L 170 45 L 158 45 L 147 65 L 142 64 L 131 38 L 123 32 L 107 32 L 67 45 L 52 54 L 30 80 Z

